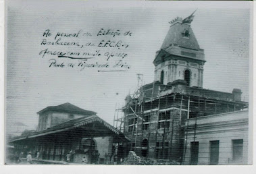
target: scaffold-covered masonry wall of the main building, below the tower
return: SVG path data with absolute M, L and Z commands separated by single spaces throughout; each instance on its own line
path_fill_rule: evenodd
M 168 119 L 159 120 L 159 114 L 165 114 L 168 111 L 170 117 Z M 184 146 L 184 131 L 181 125 L 184 124 L 187 111 L 182 109 L 180 119 L 180 109 L 171 108 L 152 111 L 145 113 L 150 116 L 149 122 L 143 122 L 138 119 L 138 127 L 134 128 L 133 132 L 128 132 L 128 118 L 126 117 L 126 136 L 130 138 L 134 144 L 134 151 L 138 156 L 143 156 L 143 150 L 147 150 L 147 157 L 149 158 L 165 158 L 170 160 L 179 161 L 183 154 Z M 165 128 L 159 128 L 158 124 L 164 123 Z M 143 130 L 143 126 L 148 124 L 147 130 Z M 133 133 L 133 134 L 132 134 Z M 147 147 L 143 147 L 143 140 L 148 142 Z M 164 142 L 164 143 L 163 143 Z M 163 144 L 162 144 L 163 143 Z M 129 149 L 130 150 L 130 149 Z

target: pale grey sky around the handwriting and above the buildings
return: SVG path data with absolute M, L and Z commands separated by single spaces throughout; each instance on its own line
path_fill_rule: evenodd
M 46 4 L 46 3 L 45 3 Z M 16 134 L 16 123 L 26 129 L 36 129 L 45 107 L 72 103 L 95 111 L 113 124 L 116 107 L 124 106 L 124 98 L 137 86 L 136 74 L 143 74 L 143 83 L 154 79 L 153 60 L 161 47 L 171 20 L 186 18 L 197 5 L 176 8 L 164 5 L 88 5 L 87 3 L 10 4 L 7 7 L 6 34 L 6 131 Z M 242 90 L 242 100 L 249 100 L 249 9 L 198 7 L 191 28 L 205 50 L 203 88 L 232 92 Z M 131 31 L 132 36 L 120 36 L 129 43 L 126 61 L 128 71 L 98 72 L 97 69 L 49 68 L 51 56 L 41 58 L 39 52 L 43 32 L 88 31 L 93 40 L 100 28 Z M 109 39 L 113 39 L 111 36 Z M 85 40 L 85 41 L 84 41 Z M 72 50 L 74 47 L 52 47 Z M 87 49 L 87 48 L 86 48 Z M 93 49 L 91 49 L 93 50 Z M 87 49 L 86 51 L 91 51 Z M 74 49 L 76 51 L 76 49 Z M 103 51 L 108 51 L 107 48 Z M 109 50 L 113 51 L 113 49 Z M 70 60 L 71 61 L 71 60 Z

